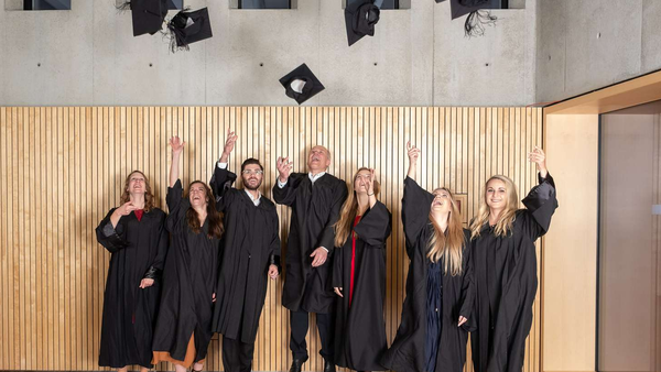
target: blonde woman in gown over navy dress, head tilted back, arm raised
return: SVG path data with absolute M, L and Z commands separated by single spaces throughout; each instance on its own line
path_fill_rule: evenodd
M 474 299 L 468 230 L 447 188 L 429 193 L 415 182 L 420 150 L 407 147 L 402 222 L 411 262 L 402 322 L 382 364 L 394 371 L 460 372 Z

